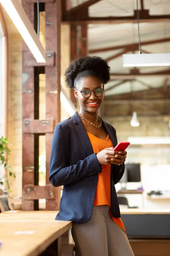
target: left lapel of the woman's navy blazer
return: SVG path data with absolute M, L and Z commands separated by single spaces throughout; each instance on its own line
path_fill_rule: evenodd
M 73 120 L 74 120 L 74 123 L 77 125 L 76 126 L 76 130 L 79 134 L 79 137 L 88 153 L 88 156 L 91 155 L 91 154 L 94 154 L 94 151 L 93 151 L 93 147 L 91 145 L 91 142 L 89 140 L 89 137 L 88 137 L 88 134 L 85 130 L 85 127 L 82 123 L 82 120 L 80 119 L 80 117 L 78 116 L 77 112 L 74 113 L 74 115 L 72 116 Z

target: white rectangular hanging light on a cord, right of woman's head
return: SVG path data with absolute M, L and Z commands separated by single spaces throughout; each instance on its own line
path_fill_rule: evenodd
M 123 54 L 123 67 L 170 66 L 170 53 Z

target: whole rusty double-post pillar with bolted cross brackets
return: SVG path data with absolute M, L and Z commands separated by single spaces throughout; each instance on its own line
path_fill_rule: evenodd
M 37 0 L 23 0 L 23 8 L 37 29 Z M 46 199 L 46 209 L 59 209 L 60 189 L 49 182 L 51 142 L 60 121 L 60 0 L 41 0 L 45 11 L 46 63 L 37 63 L 23 42 L 23 210 L 37 210 Z M 46 118 L 39 119 L 39 75 L 46 77 Z M 39 136 L 46 140 L 46 186 L 39 183 Z

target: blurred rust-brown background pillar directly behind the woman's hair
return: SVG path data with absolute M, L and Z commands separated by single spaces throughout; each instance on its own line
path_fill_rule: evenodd
M 88 55 L 88 25 L 71 25 L 71 61 L 79 56 Z M 75 104 L 74 92 L 71 90 L 71 100 Z

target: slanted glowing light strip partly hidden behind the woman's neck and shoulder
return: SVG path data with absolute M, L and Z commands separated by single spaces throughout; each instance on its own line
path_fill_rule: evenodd
M 67 97 L 63 88 L 61 88 L 60 92 L 60 102 L 69 114 L 69 116 L 73 116 L 74 113 L 77 111 L 73 102 Z

